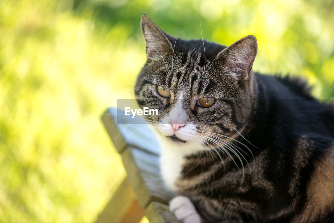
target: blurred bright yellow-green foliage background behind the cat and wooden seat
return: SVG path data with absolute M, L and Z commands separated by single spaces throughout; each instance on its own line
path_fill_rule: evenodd
M 332 0 L 0 1 L 0 222 L 94 222 L 125 176 L 100 116 L 132 99 L 140 16 L 229 45 L 254 34 L 263 73 L 334 98 Z M 143 221 L 146 221 L 145 219 Z

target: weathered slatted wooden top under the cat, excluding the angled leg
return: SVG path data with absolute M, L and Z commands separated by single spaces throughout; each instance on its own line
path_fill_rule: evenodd
M 102 121 L 116 149 L 122 155 L 129 185 L 139 205 L 146 209 L 145 215 L 151 223 L 179 223 L 168 209 L 168 201 L 173 194 L 165 188 L 160 176 L 160 148 L 154 133 L 148 124 L 122 124 L 128 122 L 123 122 L 124 119 L 117 120 L 117 112 L 120 111 L 109 108 L 102 116 Z

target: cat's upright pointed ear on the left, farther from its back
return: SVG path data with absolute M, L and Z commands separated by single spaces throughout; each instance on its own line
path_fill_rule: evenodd
M 161 60 L 169 54 L 172 44 L 159 27 L 145 14 L 142 15 L 140 24 L 146 41 L 147 59 Z

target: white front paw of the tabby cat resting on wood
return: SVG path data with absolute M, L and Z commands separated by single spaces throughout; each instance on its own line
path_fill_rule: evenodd
M 183 223 L 201 223 L 191 200 L 184 196 L 177 196 L 169 202 L 169 210 Z

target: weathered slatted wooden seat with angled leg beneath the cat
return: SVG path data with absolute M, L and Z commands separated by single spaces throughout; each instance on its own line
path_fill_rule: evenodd
M 159 174 L 160 149 L 154 133 L 148 124 L 122 124 L 117 111 L 107 109 L 102 122 L 122 155 L 127 177 L 96 223 L 137 223 L 144 215 L 150 223 L 181 223 L 168 208 L 173 194 Z

